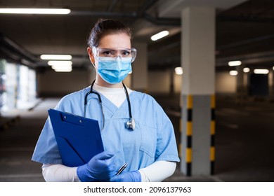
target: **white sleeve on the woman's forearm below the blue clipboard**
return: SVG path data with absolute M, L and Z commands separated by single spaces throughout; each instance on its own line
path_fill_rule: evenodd
M 77 176 L 77 167 L 67 167 L 65 165 L 42 166 L 42 174 L 46 182 L 79 182 Z

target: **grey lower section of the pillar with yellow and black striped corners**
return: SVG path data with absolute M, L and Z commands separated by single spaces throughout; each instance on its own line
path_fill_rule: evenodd
M 215 95 L 185 94 L 181 109 L 181 171 L 186 176 L 214 174 Z

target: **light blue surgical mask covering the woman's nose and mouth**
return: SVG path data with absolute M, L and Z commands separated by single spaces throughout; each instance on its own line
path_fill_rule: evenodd
M 120 83 L 129 72 L 131 72 L 131 57 L 98 57 L 98 73 L 107 83 Z

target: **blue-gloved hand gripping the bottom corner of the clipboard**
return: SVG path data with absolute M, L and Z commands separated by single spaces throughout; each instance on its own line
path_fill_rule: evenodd
M 105 181 L 112 178 L 115 171 L 115 154 L 103 151 L 85 165 L 79 166 L 77 176 L 82 182 Z

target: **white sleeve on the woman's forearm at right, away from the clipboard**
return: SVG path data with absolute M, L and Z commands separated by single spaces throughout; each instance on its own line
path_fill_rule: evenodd
M 176 162 L 157 161 L 138 171 L 141 173 L 142 182 L 160 182 L 174 174 L 175 169 Z

